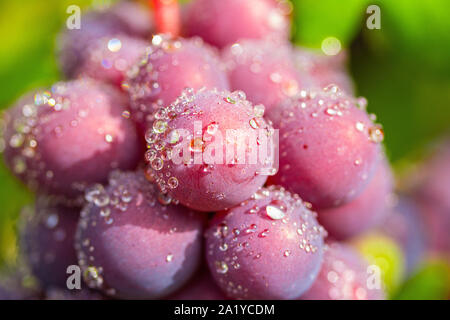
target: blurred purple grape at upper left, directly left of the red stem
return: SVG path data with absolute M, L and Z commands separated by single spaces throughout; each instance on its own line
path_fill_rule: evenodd
M 77 73 L 86 58 L 86 48 L 97 39 L 118 34 L 150 36 L 153 25 L 149 11 L 138 3 L 120 1 L 105 10 L 91 10 L 81 17 L 80 29 L 65 29 L 58 37 L 59 64 L 68 78 Z

